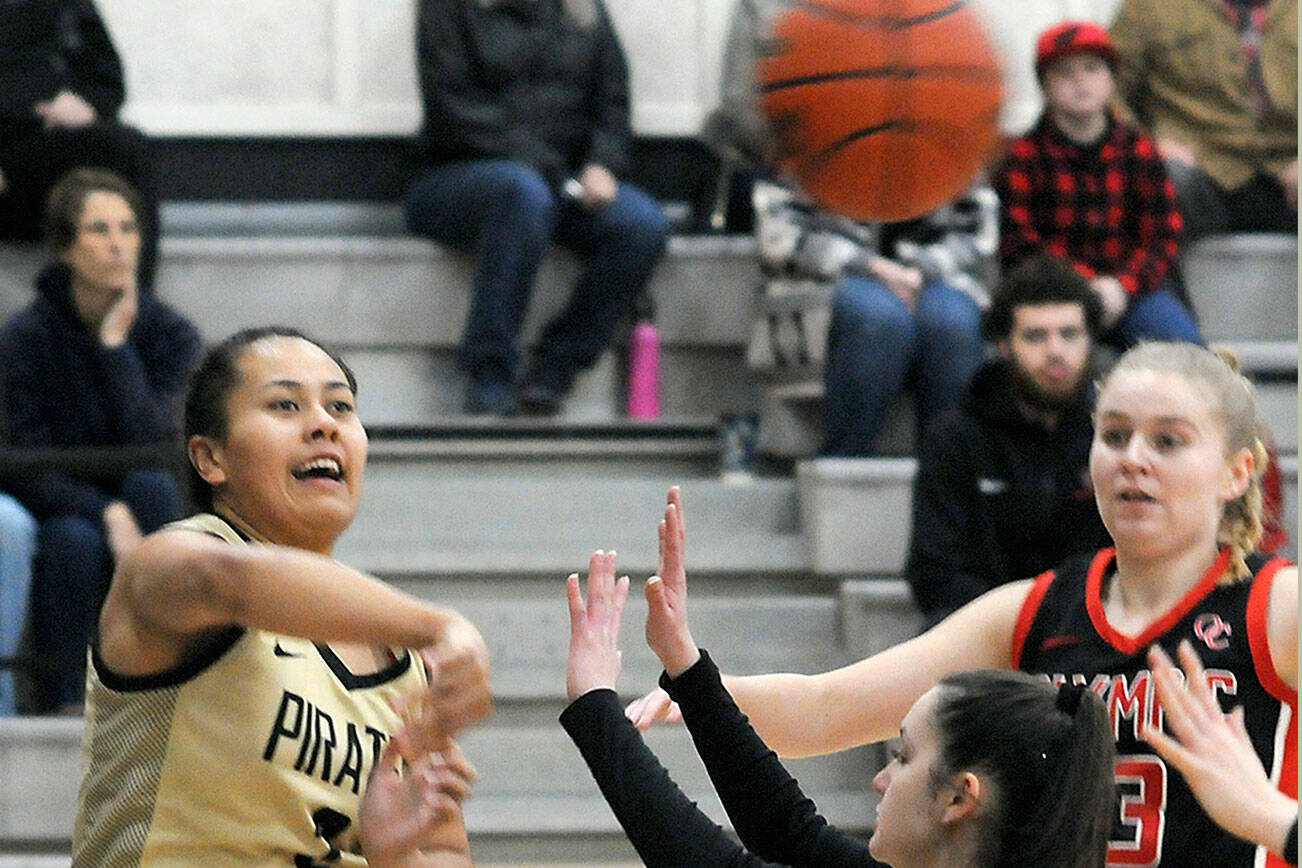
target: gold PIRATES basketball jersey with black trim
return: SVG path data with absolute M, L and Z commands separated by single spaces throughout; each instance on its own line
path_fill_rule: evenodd
M 215 515 L 173 527 L 243 544 Z M 233 627 L 158 675 L 90 656 L 74 867 L 366 864 L 358 806 L 388 700 L 426 683 L 415 655 L 354 675 L 326 645 Z

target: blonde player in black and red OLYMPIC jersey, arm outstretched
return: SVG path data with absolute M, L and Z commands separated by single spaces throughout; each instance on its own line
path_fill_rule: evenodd
M 725 685 L 771 747 L 799 756 L 889 738 L 956 670 L 1019 668 L 1085 683 L 1107 700 L 1117 737 L 1109 865 L 1282 864 L 1289 829 L 1245 841 L 1220 828 L 1142 738 L 1161 724 L 1146 653 L 1187 639 L 1224 709 L 1242 707 L 1264 774 L 1295 807 L 1298 576 L 1253 553 L 1264 450 L 1251 387 L 1206 349 L 1146 344 L 1100 387 L 1095 424 L 1090 476 L 1116 548 L 996 588 L 850 666 Z M 663 579 L 685 593 L 681 571 Z M 646 725 L 668 708 L 652 692 L 629 716 Z

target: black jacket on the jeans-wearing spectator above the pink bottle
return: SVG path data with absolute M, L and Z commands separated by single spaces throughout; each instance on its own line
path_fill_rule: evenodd
M 602 0 L 421 0 L 430 163 L 503 157 L 553 185 L 629 167 L 629 75 Z

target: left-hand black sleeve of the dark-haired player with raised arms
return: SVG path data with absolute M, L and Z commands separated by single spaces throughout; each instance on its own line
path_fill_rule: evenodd
M 763 868 L 689 800 L 624 716 L 613 690 L 594 690 L 561 712 L 596 785 L 650 868 Z

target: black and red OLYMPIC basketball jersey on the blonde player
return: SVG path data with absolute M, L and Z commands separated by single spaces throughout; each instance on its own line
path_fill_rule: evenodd
M 1128 636 L 1103 613 L 1113 557 L 1108 548 L 1040 575 L 1013 631 L 1014 666 L 1044 673 L 1055 683 L 1090 685 L 1108 704 L 1118 793 L 1108 865 L 1284 865 L 1220 829 L 1180 773 L 1167 768 L 1137 733 L 1144 718 L 1161 722 L 1147 648 L 1157 644 L 1174 658 L 1176 645 L 1189 639 L 1223 708 L 1243 707 L 1253 747 L 1271 780 L 1297 798 L 1298 694 L 1276 673 L 1266 640 L 1271 582 L 1288 561 L 1253 556 L 1250 582 L 1220 586 L 1229 563 L 1229 550 L 1223 550 L 1178 604 L 1139 635 Z

